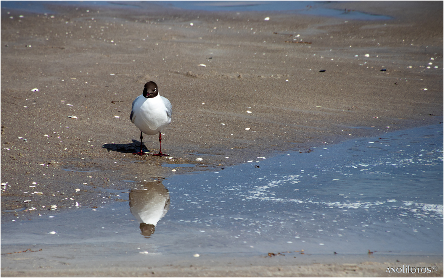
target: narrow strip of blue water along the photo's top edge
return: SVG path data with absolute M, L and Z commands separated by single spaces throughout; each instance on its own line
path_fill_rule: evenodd
M 166 8 L 200 10 L 214 12 L 292 12 L 314 16 L 337 17 L 345 20 L 391 20 L 392 17 L 362 11 L 337 10 L 326 8 L 324 1 L 149 1 L 139 3 L 132 1 L 2 1 L 1 8 L 17 9 L 23 12 L 56 13 L 46 4 L 73 6 L 102 6 L 108 8 L 152 9 L 150 3 Z

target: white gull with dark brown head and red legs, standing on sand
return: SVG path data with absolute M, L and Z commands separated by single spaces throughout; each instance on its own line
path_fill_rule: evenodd
M 140 156 L 147 155 L 142 152 L 142 133 L 155 135 L 159 133 L 159 153 L 153 154 L 159 157 L 169 157 L 162 153 L 161 132 L 171 122 L 172 106 L 167 98 L 159 95 L 155 82 L 145 83 L 143 93 L 133 102 L 130 119 L 140 129 L 140 152 L 133 153 Z

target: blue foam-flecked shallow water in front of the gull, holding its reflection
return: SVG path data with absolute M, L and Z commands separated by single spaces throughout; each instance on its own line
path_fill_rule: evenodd
M 107 190 L 120 202 L 2 223 L 2 253 L 442 255 L 442 142 L 434 125 L 127 184 Z

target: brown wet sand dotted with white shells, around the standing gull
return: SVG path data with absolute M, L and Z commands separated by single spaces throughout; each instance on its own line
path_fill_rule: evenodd
M 157 6 L 51 6 L 54 17 L 2 10 L 2 222 L 55 213 L 54 205 L 100 206 L 96 193 L 125 180 L 442 122 L 442 3 L 331 7 L 394 19 Z M 309 43 L 293 43 L 297 35 Z M 148 81 L 173 105 L 162 141 L 171 158 L 132 155 L 139 129 L 131 102 Z M 143 142 L 158 152 L 156 136 Z M 172 172 L 160 166 L 167 163 L 199 167 Z

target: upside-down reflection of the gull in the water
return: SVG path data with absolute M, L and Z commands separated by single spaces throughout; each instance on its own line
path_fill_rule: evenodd
M 170 208 L 170 193 L 162 181 L 144 182 L 142 189 L 130 191 L 130 211 L 139 220 L 141 235 L 149 237 Z

